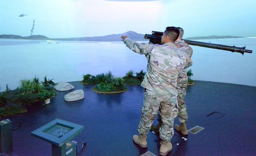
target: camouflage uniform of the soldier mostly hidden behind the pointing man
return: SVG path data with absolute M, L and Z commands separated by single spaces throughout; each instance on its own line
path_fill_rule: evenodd
M 180 123 L 185 123 L 188 120 L 188 111 L 185 103 L 185 96 L 188 84 L 188 76 L 186 69 L 190 67 L 193 63 L 190 59 L 193 53 L 193 49 L 186 44 L 183 40 L 177 42 L 182 51 L 185 51 L 189 56 L 185 68 L 179 73 L 177 79 L 177 91 L 178 91 L 178 109 L 179 109 L 179 121 Z

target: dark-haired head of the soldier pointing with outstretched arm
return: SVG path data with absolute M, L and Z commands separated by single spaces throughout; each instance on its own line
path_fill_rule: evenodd
M 176 27 L 166 27 L 163 36 L 161 38 L 162 44 L 171 42 L 174 43 L 179 37 L 180 30 Z

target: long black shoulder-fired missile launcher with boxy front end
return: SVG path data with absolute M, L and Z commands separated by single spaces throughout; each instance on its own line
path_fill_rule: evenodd
M 149 39 L 149 42 L 153 44 L 161 45 L 161 36 L 163 32 L 159 31 L 152 31 L 152 34 L 145 34 L 145 39 Z M 191 40 L 184 40 L 187 44 L 199 47 L 206 47 L 206 48 L 213 48 L 213 49 L 220 49 L 220 50 L 227 50 L 232 52 L 241 53 L 252 53 L 252 50 L 247 50 L 244 47 L 235 47 L 235 46 L 226 46 L 226 45 L 218 45 L 218 44 L 210 44 L 206 42 L 198 42 L 198 41 L 191 41 Z

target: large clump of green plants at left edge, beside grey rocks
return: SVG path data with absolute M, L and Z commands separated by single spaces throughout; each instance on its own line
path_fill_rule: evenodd
M 21 80 L 20 88 L 15 90 L 11 90 L 9 85 L 6 84 L 5 92 L 0 93 L 0 116 L 25 112 L 27 111 L 25 109 L 26 105 L 31 105 L 31 103 L 38 100 L 54 97 L 56 93 L 51 88 L 53 83 L 52 80 L 47 80 L 45 76 L 45 81 L 42 83 L 39 83 L 37 77 L 32 81 Z

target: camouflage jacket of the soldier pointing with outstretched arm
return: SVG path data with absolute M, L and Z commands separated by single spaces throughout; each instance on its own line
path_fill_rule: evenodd
M 177 96 L 177 77 L 186 64 L 187 54 L 172 43 L 164 45 L 141 44 L 129 38 L 124 44 L 148 60 L 147 72 L 141 86 L 155 93 Z

